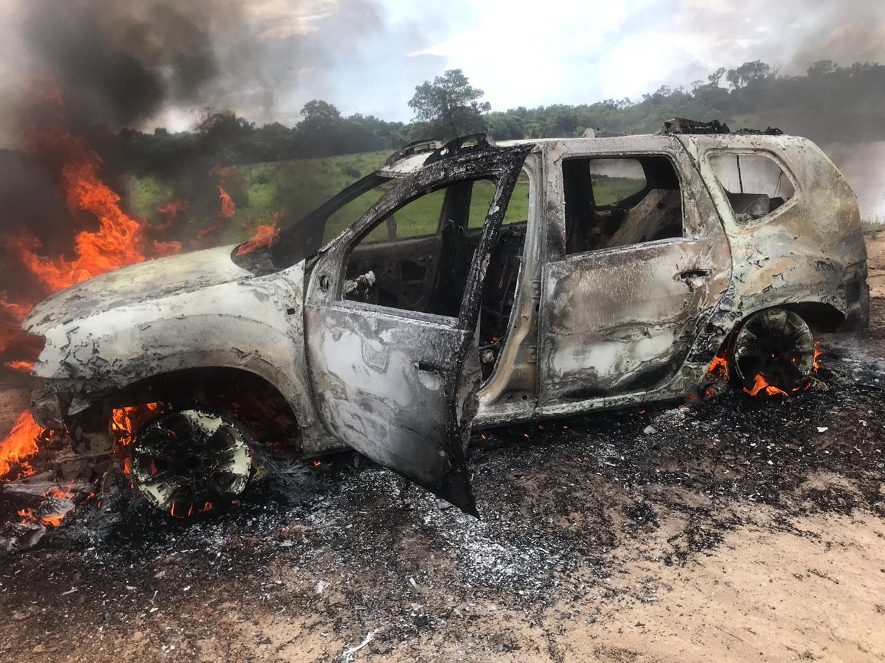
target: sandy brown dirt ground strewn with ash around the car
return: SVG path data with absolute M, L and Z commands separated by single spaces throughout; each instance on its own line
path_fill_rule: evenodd
M 868 240 L 873 321 L 823 336 L 801 397 L 484 431 L 480 521 L 346 454 L 189 525 L 81 507 L 0 558 L 0 660 L 881 661 L 885 232 Z M 8 427 L 27 399 L 4 385 Z

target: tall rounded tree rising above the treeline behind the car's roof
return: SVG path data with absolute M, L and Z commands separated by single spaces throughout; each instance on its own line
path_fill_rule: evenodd
M 431 123 L 446 137 L 485 129 L 482 113 L 491 109 L 489 102 L 481 101 L 482 90 L 473 88 L 460 69 L 450 69 L 431 83 L 425 80 L 415 88 L 409 108 L 415 118 Z

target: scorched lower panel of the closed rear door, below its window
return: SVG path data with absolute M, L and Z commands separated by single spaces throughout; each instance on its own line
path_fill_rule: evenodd
M 718 293 L 704 240 L 569 255 L 543 271 L 541 400 L 650 389 L 673 377 Z

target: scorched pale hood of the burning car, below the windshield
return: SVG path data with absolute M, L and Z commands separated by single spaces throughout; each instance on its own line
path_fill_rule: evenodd
M 53 293 L 37 304 L 22 328 L 43 334 L 58 324 L 122 306 L 159 300 L 230 281 L 252 278 L 231 260 L 235 247 L 210 248 L 137 263 Z

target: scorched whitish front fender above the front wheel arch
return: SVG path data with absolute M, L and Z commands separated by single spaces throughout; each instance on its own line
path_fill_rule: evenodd
M 60 324 L 43 331 L 34 373 L 55 391 L 89 393 L 178 370 L 247 370 L 281 392 L 309 427 L 303 278 L 296 265 Z

